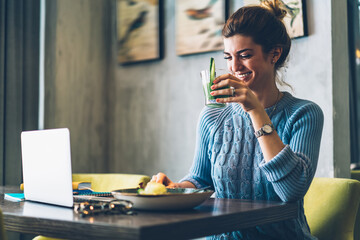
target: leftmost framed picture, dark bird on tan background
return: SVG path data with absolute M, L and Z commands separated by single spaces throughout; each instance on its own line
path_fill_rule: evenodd
M 159 59 L 161 0 L 117 0 L 118 62 Z

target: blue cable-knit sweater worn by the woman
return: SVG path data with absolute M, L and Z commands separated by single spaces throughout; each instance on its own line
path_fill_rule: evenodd
M 265 110 L 270 114 L 273 107 Z M 212 186 L 218 198 L 296 201 L 298 217 L 210 239 L 316 239 L 304 215 L 303 197 L 317 166 L 323 113 L 315 103 L 284 92 L 270 118 L 286 146 L 266 163 L 250 117 L 239 104 L 205 107 L 193 166 L 181 181 Z

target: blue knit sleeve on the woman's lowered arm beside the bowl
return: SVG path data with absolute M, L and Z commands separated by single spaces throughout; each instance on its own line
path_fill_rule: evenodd
M 211 186 L 211 163 L 209 159 L 209 136 L 218 115 L 222 110 L 219 108 L 205 107 L 200 114 L 197 125 L 196 147 L 193 165 L 187 176 L 180 180 L 189 181 L 197 188 Z

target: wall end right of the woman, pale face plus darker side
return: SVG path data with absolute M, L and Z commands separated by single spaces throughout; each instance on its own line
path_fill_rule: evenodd
M 309 36 L 293 41 L 287 79 L 325 115 L 317 176 L 350 177 L 346 1 L 306 3 Z

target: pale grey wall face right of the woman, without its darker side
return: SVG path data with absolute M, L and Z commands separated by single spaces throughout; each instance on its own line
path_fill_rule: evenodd
M 317 175 L 331 177 L 334 175 L 331 3 L 306 2 L 309 36 L 293 41 L 287 79 L 296 96 L 316 102 L 324 112 Z

